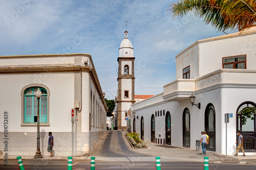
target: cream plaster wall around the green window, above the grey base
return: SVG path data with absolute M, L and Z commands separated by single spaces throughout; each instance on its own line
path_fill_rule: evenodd
M 58 81 L 56 81 L 58 80 Z M 70 80 L 70 81 L 67 81 Z M 50 89 L 50 127 L 46 131 L 70 132 L 71 108 L 74 107 L 74 74 L 11 74 L 0 76 L 1 112 L 9 112 L 9 132 L 35 132 L 35 127 L 20 126 L 22 123 L 22 89 L 29 84 L 40 83 Z M 67 90 L 69 89 L 69 90 Z M 62 126 L 66 125 L 66 126 Z M 0 131 L 3 132 L 3 129 Z

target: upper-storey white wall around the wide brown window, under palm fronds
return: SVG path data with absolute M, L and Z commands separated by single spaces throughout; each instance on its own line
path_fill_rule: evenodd
M 199 76 L 222 68 L 222 58 L 247 55 L 247 69 L 255 70 L 256 34 L 234 36 L 200 43 Z

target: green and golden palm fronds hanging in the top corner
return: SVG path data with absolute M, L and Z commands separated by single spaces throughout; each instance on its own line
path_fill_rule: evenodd
M 173 18 L 193 12 L 218 31 L 244 30 L 256 22 L 256 0 L 183 0 L 170 4 L 168 10 Z

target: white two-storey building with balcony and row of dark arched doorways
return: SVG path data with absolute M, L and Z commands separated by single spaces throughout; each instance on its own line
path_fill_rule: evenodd
M 256 151 L 256 27 L 198 40 L 176 56 L 176 80 L 163 92 L 132 105 L 132 131 L 147 142 L 196 149 L 201 131 L 209 135 L 208 150 L 236 151 L 241 130 L 246 154 Z M 196 104 L 189 102 L 191 94 Z M 131 116 L 128 116 L 131 119 Z M 254 152 L 253 152 L 254 151 Z

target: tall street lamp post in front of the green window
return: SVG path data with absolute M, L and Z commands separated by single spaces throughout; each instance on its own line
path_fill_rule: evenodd
M 39 159 L 42 158 L 41 152 L 40 152 L 40 130 L 39 130 L 39 100 L 42 96 L 42 92 L 40 91 L 39 88 L 37 88 L 37 91 L 35 92 L 35 96 L 37 98 L 37 145 L 36 145 L 36 154 L 34 156 L 34 159 Z

